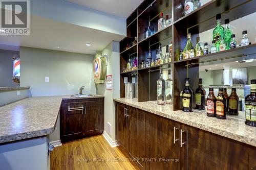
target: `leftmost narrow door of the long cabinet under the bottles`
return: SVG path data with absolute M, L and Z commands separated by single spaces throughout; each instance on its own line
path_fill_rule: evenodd
M 118 144 L 124 149 L 127 149 L 127 135 L 128 135 L 128 120 L 124 115 L 124 105 L 116 104 L 116 137 Z

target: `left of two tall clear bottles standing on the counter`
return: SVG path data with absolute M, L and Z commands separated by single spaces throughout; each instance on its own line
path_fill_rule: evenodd
M 157 104 L 158 105 L 165 105 L 165 81 L 162 75 L 163 70 L 160 70 L 160 78 L 157 80 Z

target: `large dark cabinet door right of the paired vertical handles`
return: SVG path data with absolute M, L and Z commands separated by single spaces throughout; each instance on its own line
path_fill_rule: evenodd
M 181 125 L 181 169 L 248 169 L 246 145 Z

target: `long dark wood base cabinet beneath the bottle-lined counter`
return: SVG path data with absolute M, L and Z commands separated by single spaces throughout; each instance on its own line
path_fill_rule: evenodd
M 117 141 L 140 169 L 256 169 L 248 144 L 120 103 L 116 113 Z

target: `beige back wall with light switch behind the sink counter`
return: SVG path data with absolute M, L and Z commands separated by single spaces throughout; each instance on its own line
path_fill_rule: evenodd
M 20 47 L 20 86 L 30 86 L 32 96 L 96 93 L 93 55 Z M 50 82 L 45 82 L 45 77 Z

